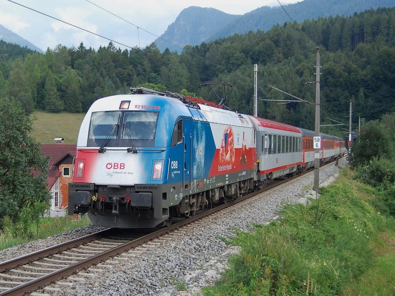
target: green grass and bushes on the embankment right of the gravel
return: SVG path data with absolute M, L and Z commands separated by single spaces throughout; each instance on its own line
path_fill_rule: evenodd
M 320 188 L 317 216 L 311 200 L 251 233 L 237 231 L 229 243 L 240 253 L 202 294 L 395 295 L 394 122 L 387 114 L 363 125 L 351 168 Z

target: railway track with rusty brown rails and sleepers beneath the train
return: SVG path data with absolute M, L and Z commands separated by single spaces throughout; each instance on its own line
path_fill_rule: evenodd
M 189 227 L 183 227 L 187 224 L 191 224 L 190 227 L 194 227 L 193 223 L 201 223 L 199 220 L 213 215 L 216 212 L 218 212 L 217 215 L 222 215 L 222 211 L 229 208 L 225 210 L 226 214 L 226 212 L 232 211 L 232 207 L 241 206 L 240 204 L 237 205 L 238 203 L 246 202 L 247 199 L 250 199 L 254 195 L 258 195 L 263 191 L 300 176 L 302 175 L 289 179 L 276 180 L 276 182 L 273 182 L 273 184 L 261 190 L 235 200 L 230 200 L 226 204 L 217 205 L 212 209 L 199 211 L 195 216 L 189 219 L 181 221 L 174 220 L 169 227 L 160 229 L 133 229 L 133 232 L 129 231 L 126 233 L 121 233 L 118 229 L 106 229 L 26 256 L 1 262 L 0 296 L 30 294 L 51 283 L 70 277 L 74 273 L 88 268 L 93 272 L 100 272 L 100 267 L 95 268 L 92 266 L 99 266 L 104 260 L 117 257 L 143 244 L 150 244 L 150 241 L 155 238 L 167 235 L 171 239 L 172 233 L 179 234 L 182 231 L 188 231 L 188 229 L 190 229 Z M 181 227 L 185 230 L 182 230 Z M 149 246 L 155 247 L 156 244 L 155 242 L 151 242 Z M 143 249 L 146 250 L 147 248 Z M 136 252 L 139 253 L 140 251 L 129 251 L 128 254 L 124 255 L 124 259 L 127 259 L 128 256 L 135 256 L 134 254 Z M 82 275 L 84 274 L 82 273 Z M 89 275 L 85 274 L 85 276 Z M 48 289 L 47 292 L 53 293 L 56 291 Z

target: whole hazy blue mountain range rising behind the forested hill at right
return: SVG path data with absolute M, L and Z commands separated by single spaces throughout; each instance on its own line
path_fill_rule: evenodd
M 295 4 L 284 5 L 284 9 L 297 22 L 319 17 L 344 15 L 350 16 L 370 8 L 394 7 L 394 0 L 304 0 Z M 213 8 L 192 6 L 184 9 L 161 38 L 179 47 L 198 45 L 221 37 L 245 34 L 249 31 L 268 31 L 276 24 L 290 22 L 291 19 L 281 6 L 262 6 L 244 15 L 230 15 Z M 159 42 L 160 41 L 160 42 Z M 180 51 L 160 39 L 155 41 L 163 51 Z

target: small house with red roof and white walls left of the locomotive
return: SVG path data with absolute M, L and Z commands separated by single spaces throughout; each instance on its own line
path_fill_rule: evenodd
M 73 159 L 77 145 L 57 144 L 40 145 L 42 154 L 48 160 L 48 190 L 51 192 L 50 217 L 65 216 L 69 204 L 68 184 L 72 182 Z

